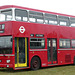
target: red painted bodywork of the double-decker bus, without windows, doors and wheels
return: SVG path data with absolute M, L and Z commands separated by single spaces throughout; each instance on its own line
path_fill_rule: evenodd
M 30 8 L 24 8 L 19 6 L 2 6 L 0 9 L 6 8 L 20 8 L 38 12 L 45 12 L 56 15 L 63 15 L 68 17 L 74 17 L 70 15 L 58 14 L 53 12 L 46 12 L 41 10 L 34 10 Z M 75 56 L 75 48 L 65 48 L 61 49 L 59 47 L 59 40 L 63 39 L 75 39 L 74 27 L 68 26 L 57 26 L 57 25 L 48 25 L 48 24 L 40 24 L 40 23 L 30 23 L 30 22 L 21 22 L 21 21 L 5 21 L 0 22 L 0 24 L 5 24 L 4 33 L 0 33 L 0 36 L 12 36 L 13 44 L 12 44 L 12 54 L 0 54 L 0 67 L 13 68 L 16 69 L 27 69 L 31 66 L 31 59 L 34 56 L 38 56 L 41 60 L 41 67 L 55 66 L 55 65 L 65 65 L 65 64 L 73 64 L 74 56 Z M 25 28 L 25 32 L 20 32 L 20 27 L 23 26 Z M 30 36 L 34 34 L 34 36 Z M 43 38 L 45 39 L 45 48 L 44 49 L 31 49 L 30 48 L 30 38 L 42 38 L 36 37 L 36 34 L 43 34 Z M 15 37 L 26 37 L 28 38 L 28 66 L 26 67 L 17 67 L 15 68 Z M 57 40 L 57 61 L 48 62 L 48 53 L 47 53 L 47 38 L 56 39 Z M 10 60 L 10 63 L 6 63 L 7 60 Z

